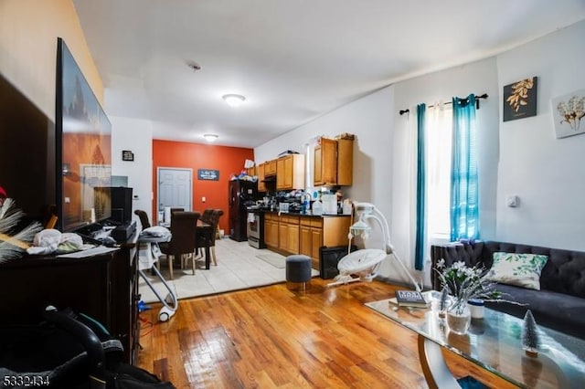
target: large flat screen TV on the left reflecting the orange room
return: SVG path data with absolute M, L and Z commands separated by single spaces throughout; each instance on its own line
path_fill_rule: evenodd
M 58 228 L 75 231 L 110 218 L 112 124 L 62 38 L 57 49 Z

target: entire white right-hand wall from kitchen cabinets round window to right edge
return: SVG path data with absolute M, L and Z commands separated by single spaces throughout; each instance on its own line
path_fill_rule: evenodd
M 481 101 L 477 113 L 482 238 L 585 249 L 585 135 L 556 140 L 549 108 L 551 97 L 585 88 L 582 37 L 585 22 L 497 57 L 399 82 L 262 144 L 255 149 L 257 161 L 295 145 L 301 148 L 319 134 L 356 134 L 354 185 L 346 195 L 378 205 L 399 257 L 412 267 L 405 152 L 409 124 L 398 111 L 485 92 L 490 98 Z M 503 86 L 531 76 L 539 77 L 537 117 L 503 123 Z M 520 207 L 505 207 L 506 195 L 519 195 Z M 405 280 L 400 274 L 389 261 L 381 269 L 382 276 Z

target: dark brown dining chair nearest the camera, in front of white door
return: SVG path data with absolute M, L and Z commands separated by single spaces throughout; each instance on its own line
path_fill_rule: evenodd
M 171 240 L 168 243 L 159 244 L 168 261 L 169 279 L 173 279 L 174 258 L 179 258 L 181 268 L 183 268 L 184 259 L 190 257 L 193 274 L 195 274 L 197 219 L 199 216 L 198 212 L 177 211 L 171 214 Z

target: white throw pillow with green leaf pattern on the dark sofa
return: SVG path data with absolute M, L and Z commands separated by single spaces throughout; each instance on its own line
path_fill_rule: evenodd
M 489 279 L 502 284 L 540 290 L 540 272 L 548 256 L 539 254 L 494 253 Z

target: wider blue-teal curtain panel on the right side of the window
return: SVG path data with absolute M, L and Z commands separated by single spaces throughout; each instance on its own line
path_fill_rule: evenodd
M 451 240 L 479 237 L 475 96 L 452 98 Z

